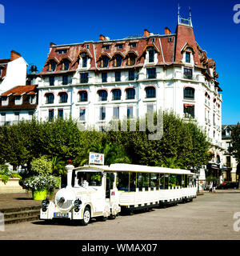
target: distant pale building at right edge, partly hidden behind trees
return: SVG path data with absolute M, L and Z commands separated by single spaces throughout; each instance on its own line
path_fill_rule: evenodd
M 236 125 L 225 125 L 222 126 L 222 142 L 225 147 L 224 154 L 222 156 L 223 160 L 223 169 L 222 169 L 222 178 L 224 182 L 238 182 L 239 175 L 237 174 L 238 162 L 230 154 L 230 146 L 232 141 L 232 130 Z

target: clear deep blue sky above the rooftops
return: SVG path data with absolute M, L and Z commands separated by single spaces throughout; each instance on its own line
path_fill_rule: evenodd
M 222 124 L 236 124 L 240 122 L 240 23 L 235 24 L 233 17 L 240 0 L 0 0 L 5 7 L 0 58 L 10 58 L 10 50 L 16 50 L 42 70 L 50 42 L 97 41 L 99 34 L 126 38 L 143 34 L 144 29 L 164 34 L 166 26 L 174 33 L 178 3 L 182 17 L 188 18 L 191 7 L 195 38 L 217 62 L 223 90 Z

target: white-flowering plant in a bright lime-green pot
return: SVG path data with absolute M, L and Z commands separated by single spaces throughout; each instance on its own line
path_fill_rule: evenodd
M 31 176 L 23 182 L 23 188 L 32 191 L 34 200 L 45 200 L 48 193 L 53 193 L 56 185 L 57 178 L 46 174 Z

